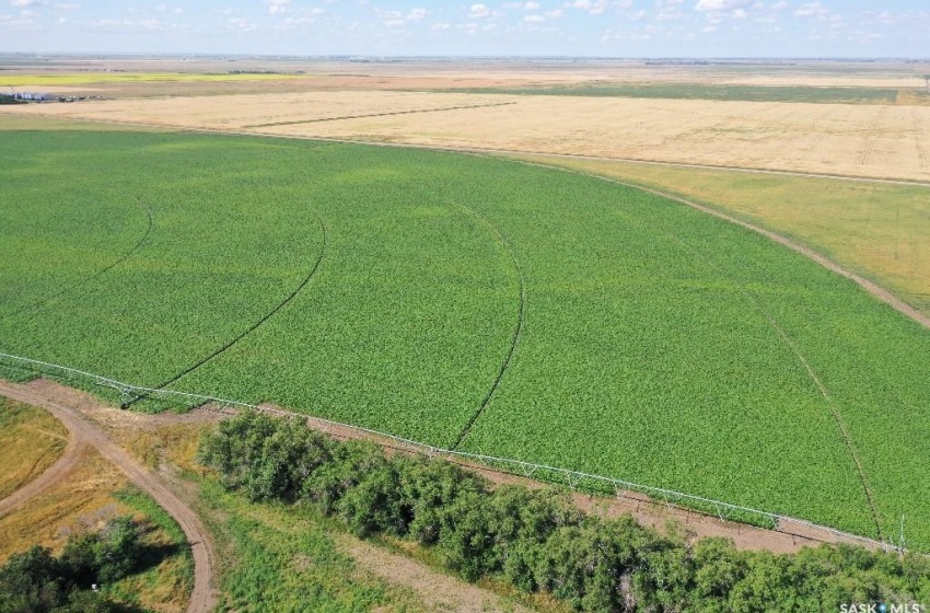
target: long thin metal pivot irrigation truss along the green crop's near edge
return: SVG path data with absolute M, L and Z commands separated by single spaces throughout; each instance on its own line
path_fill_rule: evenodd
M 685 494 L 650 485 L 641 485 L 603 475 L 592 475 L 558 466 L 548 466 L 545 464 L 535 464 L 533 462 L 523 462 L 521 460 L 512 460 L 509 458 L 497 458 L 493 455 L 443 449 L 423 442 L 405 439 L 395 435 L 390 435 L 387 432 L 362 428 L 360 426 L 351 426 L 349 424 L 341 424 L 339 421 L 332 421 L 321 417 L 313 417 L 307 414 L 284 410 L 278 407 L 254 405 L 240 401 L 218 398 L 175 390 L 143 388 L 73 368 L 0 352 L 0 369 L 2 368 L 19 371 L 21 373 L 26 372 L 30 375 L 45 377 L 66 383 L 83 383 L 84 385 L 90 384 L 97 388 L 106 388 L 119 393 L 124 402 L 146 396 L 147 398 L 163 401 L 174 405 L 179 404 L 186 407 L 212 404 L 220 407 L 235 409 L 254 409 L 281 417 L 295 417 L 304 419 L 310 427 L 324 432 L 374 439 L 384 444 L 388 444 L 410 453 L 426 455 L 428 458 L 458 460 L 460 462 L 464 461 L 466 463 L 478 464 L 479 466 L 484 465 L 512 475 L 533 477 L 539 481 L 568 485 L 572 489 L 616 495 L 619 498 L 624 498 L 632 493 L 638 493 L 649 496 L 653 501 L 663 502 L 670 507 L 675 506 L 695 510 L 711 517 L 717 517 L 724 521 L 739 521 L 789 534 L 798 534 L 797 531 L 799 530 L 807 533 L 826 534 L 830 535 L 836 542 L 855 543 L 887 552 L 903 553 L 905 551 L 903 543 L 894 544 L 876 541 L 874 539 L 868 539 L 858 534 L 851 534 L 826 525 L 769 511 L 762 511 L 759 509 L 732 505 L 730 502 L 713 500 L 711 498 L 695 496 L 693 494 Z M 814 540 L 817 539 L 814 537 Z

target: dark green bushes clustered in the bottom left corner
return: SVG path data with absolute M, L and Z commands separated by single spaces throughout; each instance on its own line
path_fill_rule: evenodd
M 98 531 L 72 534 L 58 557 L 33 546 L 0 566 L 0 613 L 116 613 L 131 611 L 92 589 L 128 576 L 140 555 L 140 531 L 130 517 Z

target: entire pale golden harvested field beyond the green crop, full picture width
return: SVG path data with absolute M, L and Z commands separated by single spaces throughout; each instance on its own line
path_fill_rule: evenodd
M 460 106 L 478 107 L 438 111 Z M 339 91 L 24 105 L 2 112 L 930 181 L 928 106 Z

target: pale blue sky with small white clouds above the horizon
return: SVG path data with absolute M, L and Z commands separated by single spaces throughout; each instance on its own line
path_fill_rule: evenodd
M 0 51 L 930 57 L 930 1 L 0 0 Z

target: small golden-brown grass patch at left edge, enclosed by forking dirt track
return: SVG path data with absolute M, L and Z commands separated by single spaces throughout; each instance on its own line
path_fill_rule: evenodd
M 0 499 L 53 465 L 67 444 L 68 430 L 51 414 L 0 397 Z

